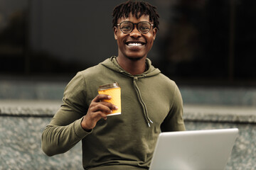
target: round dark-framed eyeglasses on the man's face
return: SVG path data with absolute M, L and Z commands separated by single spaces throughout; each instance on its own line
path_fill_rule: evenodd
M 151 24 L 147 21 L 141 21 L 139 23 L 132 23 L 131 21 L 123 21 L 122 23 L 118 23 L 117 26 L 120 27 L 120 30 L 122 30 L 123 33 L 132 33 L 132 30 L 134 30 L 134 25 L 137 26 L 137 30 L 139 30 L 139 33 L 149 33 L 149 30 L 151 29 L 151 26 L 154 26 L 154 24 Z

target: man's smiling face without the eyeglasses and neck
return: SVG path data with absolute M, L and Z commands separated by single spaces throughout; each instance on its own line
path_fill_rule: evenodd
M 123 21 L 130 21 L 132 23 L 149 22 L 149 16 L 143 15 L 137 19 L 130 14 L 128 18 L 119 18 L 117 23 L 122 23 Z M 127 57 L 130 60 L 139 60 L 146 57 L 155 38 L 156 28 L 152 28 L 152 26 L 149 33 L 145 34 L 139 33 L 137 26 L 134 26 L 134 30 L 131 33 L 122 33 L 119 26 L 114 27 L 114 39 L 117 40 L 118 56 Z

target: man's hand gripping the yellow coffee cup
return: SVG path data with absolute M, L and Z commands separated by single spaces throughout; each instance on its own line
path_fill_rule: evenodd
M 93 98 L 90 106 L 88 108 L 87 114 L 82 119 L 81 125 L 84 130 L 92 130 L 95 128 L 97 121 L 101 118 L 107 120 L 107 114 L 112 113 L 112 110 L 117 110 L 117 106 L 112 103 L 103 101 L 105 99 L 110 99 L 111 96 L 105 94 L 99 94 Z

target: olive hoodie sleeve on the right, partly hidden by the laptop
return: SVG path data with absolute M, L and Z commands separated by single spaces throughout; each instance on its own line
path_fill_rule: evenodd
M 161 124 L 162 132 L 182 131 L 186 130 L 183 121 L 183 101 L 181 92 L 175 84 L 174 96 L 171 103 L 171 110 Z

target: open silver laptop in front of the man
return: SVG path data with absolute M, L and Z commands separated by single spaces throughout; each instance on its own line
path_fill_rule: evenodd
M 161 132 L 149 170 L 225 169 L 238 128 Z

